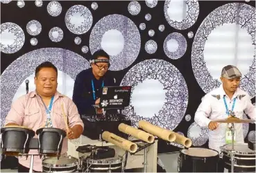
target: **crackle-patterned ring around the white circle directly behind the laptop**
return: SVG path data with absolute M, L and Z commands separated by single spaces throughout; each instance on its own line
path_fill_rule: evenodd
M 169 62 L 153 59 L 133 66 L 124 76 L 121 86 L 133 86 L 132 98 L 135 86 L 147 79 L 158 80 L 164 86 L 166 102 L 162 105 L 162 109 L 153 118 L 144 118 L 138 115 L 133 105 L 130 104 L 123 110 L 123 113 L 132 120 L 133 125 L 137 125 L 139 120 L 146 120 L 159 127 L 175 129 L 187 109 L 189 96 L 185 79 L 180 71 Z

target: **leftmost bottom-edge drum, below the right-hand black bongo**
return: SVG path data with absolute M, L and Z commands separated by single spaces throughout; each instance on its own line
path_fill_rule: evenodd
M 42 160 L 43 172 L 76 172 L 78 170 L 78 159 L 67 156 L 44 158 Z

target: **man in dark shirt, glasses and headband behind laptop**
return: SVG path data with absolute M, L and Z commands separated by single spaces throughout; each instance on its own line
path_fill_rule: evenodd
M 93 105 L 100 103 L 103 86 L 114 86 L 116 82 L 107 73 L 110 68 L 109 61 L 108 53 L 103 50 L 96 51 L 90 60 L 92 68 L 81 71 L 76 76 L 73 101 L 80 115 L 101 113 L 101 109 L 95 109 Z

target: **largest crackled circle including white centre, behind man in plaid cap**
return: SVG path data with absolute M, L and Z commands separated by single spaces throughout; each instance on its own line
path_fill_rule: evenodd
M 234 20 L 234 16 L 236 16 Z M 246 21 L 246 22 L 245 22 Z M 211 24 L 211 25 L 209 25 Z M 235 25 L 235 28 L 230 28 Z M 243 28 L 243 29 L 241 29 Z M 238 33 L 239 30 L 247 30 L 247 33 L 241 31 L 239 36 L 242 37 L 239 42 L 237 42 L 236 48 L 234 45 L 231 45 L 231 41 L 234 40 L 235 33 Z M 225 32 L 218 35 L 219 39 L 216 39 L 216 33 L 214 30 L 219 30 Z M 234 31 L 235 30 L 235 31 Z M 229 35 L 225 35 L 225 33 Z M 212 35 L 213 34 L 213 35 Z M 211 36 L 212 35 L 212 36 Z M 234 35 L 232 40 L 230 35 Z M 250 42 L 248 40 L 248 35 L 250 35 Z M 214 38 L 215 37 L 215 38 Z M 207 41 L 208 39 L 212 40 L 212 43 Z M 223 42 L 219 40 L 223 39 Z M 213 42 L 213 41 L 218 42 Z M 245 40 L 246 42 L 244 42 Z M 224 42 L 225 41 L 225 42 Z M 228 44 L 230 42 L 230 44 Z M 232 42 L 235 43 L 235 42 Z M 214 54 L 210 55 L 210 45 L 214 45 L 211 49 L 211 52 Z M 221 46 L 218 46 L 221 45 Z M 230 49 L 231 45 L 231 49 Z M 205 52 L 208 49 L 207 52 Z M 229 46 L 229 47 L 228 47 Z M 247 91 L 250 96 L 255 95 L 255 8 L 249 6 L 245 3 L 227 3 L 224 6 L 216 8 L 213 12 L 208 15 L 202 24 L 200 24 L 197 33 L 194 37 L 194 42 L 192 45 L 191 51 L 191 63 L 192 69 L 194 71 L 195 78 L 199 86 L 208 93 L 221 85 L 219 76 L 221 74 L 221 69 L 223 66 L 232 64 L 238 66 L 241 71 L 248 71 L 247 73 L 242 74 L 240 88 Z M 227 52 L 229 51 L 229 53 Z M 214 57 L 219 53 L 225 53 L 224 57 Z M 206 53 L 206 55 L 205 55 Z M 228 53 L 228 55 L 227 55 Z M 207 56 L 207 57 L 206 57 Z M 212 58 L 211 58 L 212 57 Z M 238 58 L 241 57 L 241 60 Z M 246 61 L 245 61 L 246 60 Z M 250 60 L 250 61 L 248 61 Z M 212 66 L 214 62 L 214 67 Z M 252 62 L 248 68 L 247 62 Z M 217 64 L 216 64 L 217 63 Z M 239 64 L 237 64 L 239 63 Z M 225 65 L 224 65 L 225 64 Z M 214 69 L 213 69 L 214 68 Z M 218 78 L 216 78 L 218 76 Z M 214 78 L 215 77 L 215 78 Z

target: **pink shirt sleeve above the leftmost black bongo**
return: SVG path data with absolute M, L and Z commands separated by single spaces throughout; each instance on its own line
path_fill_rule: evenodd
M 15 102 L 12 103 L 10 111 L 6 116 L 5 125 L 8 123 L 15 123 L 17 125 L 22 125 L 25 115 L 25 103 L 26 103 L 26 95 L 18 98 Z

